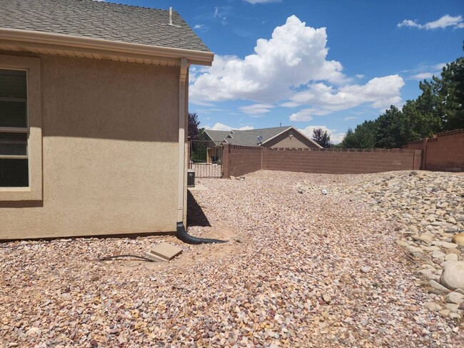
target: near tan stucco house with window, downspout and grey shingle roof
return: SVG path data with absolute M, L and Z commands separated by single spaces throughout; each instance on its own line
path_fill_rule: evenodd
M 175 231 L 212 61 L 176 12 L 0 0 L 0 240 Z

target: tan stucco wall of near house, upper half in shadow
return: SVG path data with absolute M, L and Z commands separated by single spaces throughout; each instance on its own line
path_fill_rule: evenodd
M 176 229 L 179 68 L 41 56 L 43 201 L 0 239 Z

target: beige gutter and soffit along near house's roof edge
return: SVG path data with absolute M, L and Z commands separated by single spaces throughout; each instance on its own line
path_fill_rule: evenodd
M 139 59 L 179 60 L 187 58 L 189 64 L 211 66 L 214 53 L 185 48 L 131 44 L 123 41 L 109 41 L 81 36 L 51 34 L 41 31 L 0 28 L 0 46 L 22 47 L 32 50 L 79 51 L 98 56 L 127 56 Z

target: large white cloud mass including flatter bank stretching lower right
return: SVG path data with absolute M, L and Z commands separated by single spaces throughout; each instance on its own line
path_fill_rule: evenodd
M 326 29 L 314 29 L 296 16 L 273 30 L 271 39 L 258 39 L 254 53 L 216 56 L 213 65 L 192 68 L 190 101 L 211 105 L 221 101 L 253 101 L 243 113 L 264 116 L 275 106 L 303 107 L 291 121 L 311 121 L 362 104 L 387 108 L 401 103 L 399 75 L 353 83 L 338 61 L 328 60 Z M 418 71 L 420 72 L 420 71 Z M 357 78 L 365 76 L 358 74 Z

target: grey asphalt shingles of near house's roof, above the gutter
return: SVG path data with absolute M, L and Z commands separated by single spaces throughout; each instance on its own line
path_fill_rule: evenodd
M 92 0 L 0 0 L 0 27 L 209 52 L 173 11 Z

